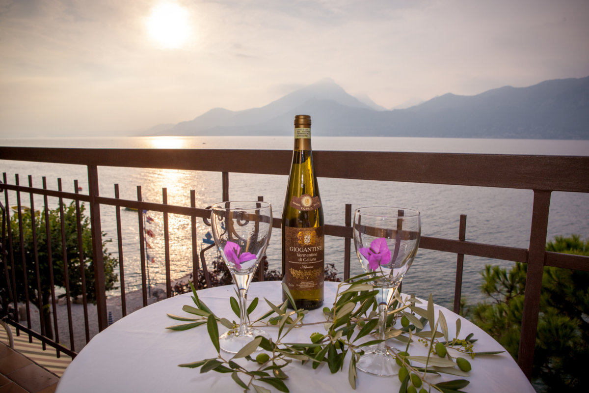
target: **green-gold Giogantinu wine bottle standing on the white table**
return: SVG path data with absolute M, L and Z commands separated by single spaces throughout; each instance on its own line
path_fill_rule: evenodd
M 323 207 L 311 151 L 311 117 L 294 117 L 294 149 L 282 212 L 282 282 L 297 308 L 323 305 Z M 286 300 L 286 293 L 282 293 Z M 292 308 L 289 302 L 289 308 Z

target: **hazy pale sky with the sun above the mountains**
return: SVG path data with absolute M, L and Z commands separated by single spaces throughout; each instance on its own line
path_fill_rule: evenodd
M 7 138 L 135 135 L 324 78 L 393 108 L 588 75 L 588 0 L 0 0 Z

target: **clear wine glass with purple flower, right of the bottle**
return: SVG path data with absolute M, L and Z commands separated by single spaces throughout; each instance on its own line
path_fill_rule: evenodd
M 395 290 L 411 266 L 421 235 L 419 212 L 402 207 L 361 207 L 354 215 L 354 245 L 362 267 L 378 289 L 379 339 L 365 348 L 356 367 L 381 377 L 399 366 L 385 344 L 386 315 Z

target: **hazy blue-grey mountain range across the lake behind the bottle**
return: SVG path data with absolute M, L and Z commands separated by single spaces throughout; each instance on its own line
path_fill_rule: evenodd
M 589 139 L 589 77 L 448 93 L 395 110 L 353 97 L 328 78 L 261 108 L 215 108 L 149 134 L 290 136 L 294 115 L 302 113 L 311 115 L 315 136 Z

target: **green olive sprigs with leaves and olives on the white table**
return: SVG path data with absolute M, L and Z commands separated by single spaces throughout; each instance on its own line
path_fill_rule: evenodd
M 268 384 L 278 391 L 288 392 L 289 389 L 285 383 L 288 379 L 284 368 L 293 360 L 301 361 L 303 364 L 310 364 L 312 368 L 317 368 L 320 364 L 326 363 L 330 372 L 336 373 L 343 370 L 344 359 L 348 352 L 350 361 L 348 364 L 348 381 L 352 388 L 356 388 L 356 362 L 363 355 L 363 348 L 376 344 L 380 340 L 372 339 L 368 341 L 360 338 L 375 337 L 378 333 L 378 313 L 376 312 L 377 304 L 375 301 L 376 290 L 370 285 L 370 278 L 366 278 L 366 273 L 355 276 L 346 282 L 340 283 L 337 287 L 336 300 L 332 308 L 324 308 L 324 322 L 305 323 L 306 310 L 294 309 L 287 310 L 287 302 L 294 305 L 294 300 L 290 292 L 285 288 L 287 300 L 281 305 L 274 305 L 267 299 L 264 299 L 270 309 L 255 321 L 249 321 L 250 325 L 275 325 L 278 327 L 278 338 L 276 341 L 268 340 L 258 336 L 242 348 L 237 354 L 226 358 L 221 354 L 219 346 L 219 329 L 217 323 L 226 328 L 233 328 L 235 322 L 226 318 L 220 318 L 215 315 L 203 302 L 198 298 L 196 289 L 191 286 L 193 291 L 192 299 L 194 306 L 185 305 L 183 311 L 193 314 L 194 318 L 186 318 L 168 314 L 170 318 L 178 321 L 184 321 L 181 325 L 169 326 L 167 329 L 183 331 L 197 326 L 207 325 L 207 330 L 211 342 L 217 350 L 217 357 L 203 359 L 201 361 L 181 364 L 181 367 L 199 368 L 200 372 L 215 371 L 221 374 L 231 374 L 231 378 L 237 385 L 246 391 L 253 389 L 256 393 L 270 392 L 269 389 L 260 386 L 260 382 Z M 283 285 L 283 287 L 285 287 Z M 236 299 L 231 298 L 231 309 L 239 315 L 239 305 Z M 259 305 L 259 299 L 254 299 L 247 308 L 247 315 L 256 309 Z M 401 328 L 389 328 L 386 332 L 386 339 L 396 339 L 406 344 L 405 351 L 397 351 L 391 347 L 389 352 L 396 358 L 397 364 L 401 367 L 399 370 L 399 380 L 401 388 L 399 393 L 412 392 L 460 392 L 460 389 L 466 387 L 469 381 L 466 379 L 453 379 L 445 382 L 428 381 L 428 375 L 449 374 L 457 377 L 468 377 L 471 371 L 470 362 L 462 356 L 474 358 L 476 355 L 492 355 L 502 351 L 493 352 L 474 352 L 473 346 L 477 341 L 470 333 L 465 339 L 458 339 L 460 333 L 460 319 L 456 321 L 456 338 L 449 338 L 448 326 L 442 312 L 438 313 L 435 318 L 434 301 L 429 296 L 426 308 L 418 305 L 422 302 L 415 296 L 401 298 L 399 293 L 395 293 L 395 301 L 392 303 L 388 312 L 387 326 L 393 326 L 398 319 L 401 319 Z M 424 326 L 428 323 L 434 326 L 429 331 L 424 331 Z M 287 334 L 292 329 L 301 326 L 317 325 L 322 326 L 324 331 L 315 332 L 310 336 L 310 342 L 292 343 L 286 341 Z M 441 331 L 438 331 L 439 330 Z M 442 341 L 443 338 L 443 341 Z M 427 356 L 412 356 L 409 354 L 409 344 L 411 342 L 421 342 L 422 345 L 429 348 Z M 458 352 L 458 356 L 452 356 L 451 351 Z M 262 351 L 256 356 L 254 352 Z M 453 353 L 454 353 L 453 352 Z M 238 363 L 238 359 L 245 359 Z M 249 365 L 244 366 L 243 364 Z

